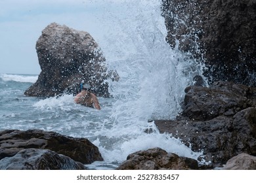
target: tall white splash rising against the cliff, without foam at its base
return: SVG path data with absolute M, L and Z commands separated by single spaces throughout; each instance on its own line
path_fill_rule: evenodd
M 175 117 L 184 88 L 192 84 L 194 75 L 202 74 L 201 65 L 165 41 L 161 1 L 123 1 L 121 6 L 125 7 L 121 16 L 108 15 L 112 28 L 108 42 L 100 44 L 110 68 L 121 77 L 120 82 L 111 83 L 112 94 L 125 96 L 126 101 L 117 101 L 113 114 L 129 108 L 137 118 Z

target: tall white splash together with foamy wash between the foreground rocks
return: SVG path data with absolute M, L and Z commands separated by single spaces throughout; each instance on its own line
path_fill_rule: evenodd
M 181 112 L 184 88 L 195 75 L 202 75 L 202 65 L 165 41 L 160 7 L 160 0 L 140 0 L 122 1 L 116 11 L 111 4 L 106 8 L 102 24 L 109 29 L 98 43 L 120 80 L 109 81 L 115 99 L 110 118 L 95 131 L 94 143 L 105 160 L 121 162 L 131 152 L 152 147 L 194 159 L 202 155 L 148 123 L 175 118 Z M 154 133 L 144 133 L 149 127 Z

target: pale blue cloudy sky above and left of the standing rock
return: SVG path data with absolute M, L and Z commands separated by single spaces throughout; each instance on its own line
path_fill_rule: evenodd
M 35 44 L 52 22 L 102 38 L 104 9 L 121 0 L 0 0 L 0 73 L 39 75 Z

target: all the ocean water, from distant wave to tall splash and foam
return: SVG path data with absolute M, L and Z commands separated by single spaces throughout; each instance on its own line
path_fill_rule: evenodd
M 98 98 L 102 110 L 75 104 L 73 95 L 26 97 L 25 90 L 38 75 L 2 73 L 0 130 L 43 129 L 85 137 L 104 158 L 87 165 L 90 169 L 115 169 L 129 154 L 154 147 L 197 159 L 202 152 L 160 134 L 154 120 L 173 119 L 181 112 L 184 88 L 202 75 L 202 64 L 165 41 L 160 0 L 127 0 L 118 6 L 109 2 L 97 22 L 104 27 L 103 36 L 95 39 L 120 80 L 108 81 L 113 97 Z M 145 133 L 147 129 L 153 133 Z

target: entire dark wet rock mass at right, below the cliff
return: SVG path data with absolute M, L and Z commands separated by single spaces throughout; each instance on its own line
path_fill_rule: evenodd
M 215 82 L 209 88 L 186 88 L 184 111 L 175 120 L 155 120 L 161 133 L 171 133 L 214 166 L 246 152 L 256 155 L 255 88 Z

